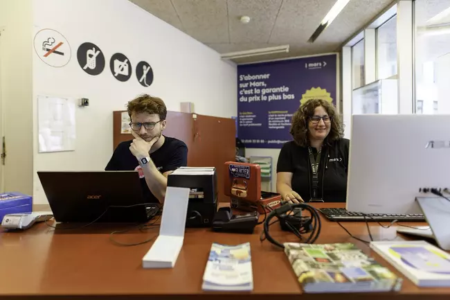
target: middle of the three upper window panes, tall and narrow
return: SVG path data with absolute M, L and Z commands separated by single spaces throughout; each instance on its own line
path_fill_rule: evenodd
M 377 28 L 377 79 L 397 75 L 397 15 Z

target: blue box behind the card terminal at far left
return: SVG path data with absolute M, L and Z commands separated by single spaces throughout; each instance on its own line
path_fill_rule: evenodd
M 0 222 L 10 213 L 31 213 L 33 197 L 19 192 L 0 194 Z

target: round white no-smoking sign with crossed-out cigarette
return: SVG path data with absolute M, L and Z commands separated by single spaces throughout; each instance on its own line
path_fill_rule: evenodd
M 39 30 L 35 35 L 37 56 L 51 67 L 64 67 L 71 60 L 71 46 L 66 37 L 53 29 Z

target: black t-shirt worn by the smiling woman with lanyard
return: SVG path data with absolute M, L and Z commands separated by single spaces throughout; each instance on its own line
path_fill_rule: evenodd
M 350 141 L 339 139 L 324 145 L 318 166 L 318 195 L 324 202 L 345 202 L 347 199 L 348 152 Z M 314 159 L 317 150 L 312 148 Z M 282 146 L 277 164 L 278 172 L 293 173 L 291 186 L 308 202 L 312 193 L 312 170 L 307 147 L 289 141 Z

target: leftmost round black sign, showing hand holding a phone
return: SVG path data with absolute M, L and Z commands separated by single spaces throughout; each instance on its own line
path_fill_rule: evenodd
M 105 55 L 96 44 L 85 42 L 78 47 L 78 64 L 89 75 L 98 75 L 105 69 Z

